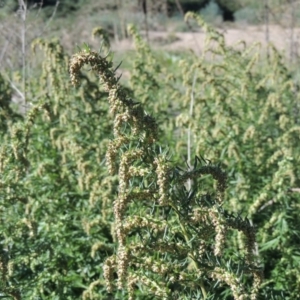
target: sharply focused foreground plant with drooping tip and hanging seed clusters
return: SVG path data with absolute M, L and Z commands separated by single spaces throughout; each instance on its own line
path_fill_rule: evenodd
M 128 97 L 107 60 L 92 51 L 76 54 L 70 65 L 72 82 L 78 84 L 78 73 L 85 64 L 99 74 L 115 115 L 114 139 L 106 161 L 110 173 L 117 172 L 119 178 L 113 204 L 117 252 L 104 264 L 108 290 L 112 292 L 115 285 L 125 289 L 128 299 L 136 294 L 188 299 L 199 286 L 207 298 L 208 293 L 213 294 L 212 286 L 223 282 L 235 299 L 247 299 L 249 292 L 256 299 L 261 271 L 253 255 L 255 233 L 248 220 L 223 211 L 225 174 L 205 160 L 198 167 L 199 159 L 190 172 L 172 167 L 166 153 L 155 147 L 155 120 Z M 206 175 L 217 182 L 215 195 L 198 190 Z M 194 181 L 193 190 L 185 188 L 187 180 Z M 245 235 L 244 262 L 221 257 L 229 229 Z M 253 276 L 249 290 L 241 283 L 243 273 Z

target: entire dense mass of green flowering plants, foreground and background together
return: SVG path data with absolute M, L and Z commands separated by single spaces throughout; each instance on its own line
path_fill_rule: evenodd
M 100 53 L 34 42 L 23 113 L 0 76 L 1 297 L 297 299 L 299 86 L 186 17 L 201 57 L 128 29 L 130 86 L 101 28 Z

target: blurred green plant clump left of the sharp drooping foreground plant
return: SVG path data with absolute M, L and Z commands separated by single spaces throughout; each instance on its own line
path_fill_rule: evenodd
M 39 47 L 46 57 L 42 75 L 30 83 L 42 95 L 2 136 L 1 249 L 14 266 L 3 269 L 2 291 L 14 289 L 22 299 L 76 299 L 99 280 L 100 262 L 113 249 L 107 198 L 114 179 L 101 163 L 109 119 L 93 100 L 105 93 L 91 78 L 82 74 L 82 87 L 70 89 L 61 46 L 40 40 Z

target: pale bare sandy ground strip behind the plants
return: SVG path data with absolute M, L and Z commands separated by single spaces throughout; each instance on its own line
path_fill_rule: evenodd
M 244 41 L 248 46 L 253 43 L 260 43 L 262 49 L 267 45 L 266 30 L 264 26 L 245 26 L 245 28 L 219 28 L 224 34 L 227 45 L 237 45 L 240 41 Z M 285 51 L 289 55 L 291 49 L 291 37 L 293 37 L 294 51 L 298 49 L 300 42 L 300 28 L 294 29 L 291 32 L 288 28 L 272 25 L 269 27 L 269 41 L 275 45 L 280 51 Z M 184 51 L 191 50 L 195 53 L 200 53 L 203 50 L 205 43 L 204 32 L 149 32 L 150 44 L 154 47 Z M 114 51 L 133 49 L 131 40 L 123 40 L 118 43 L 113 43 Z

